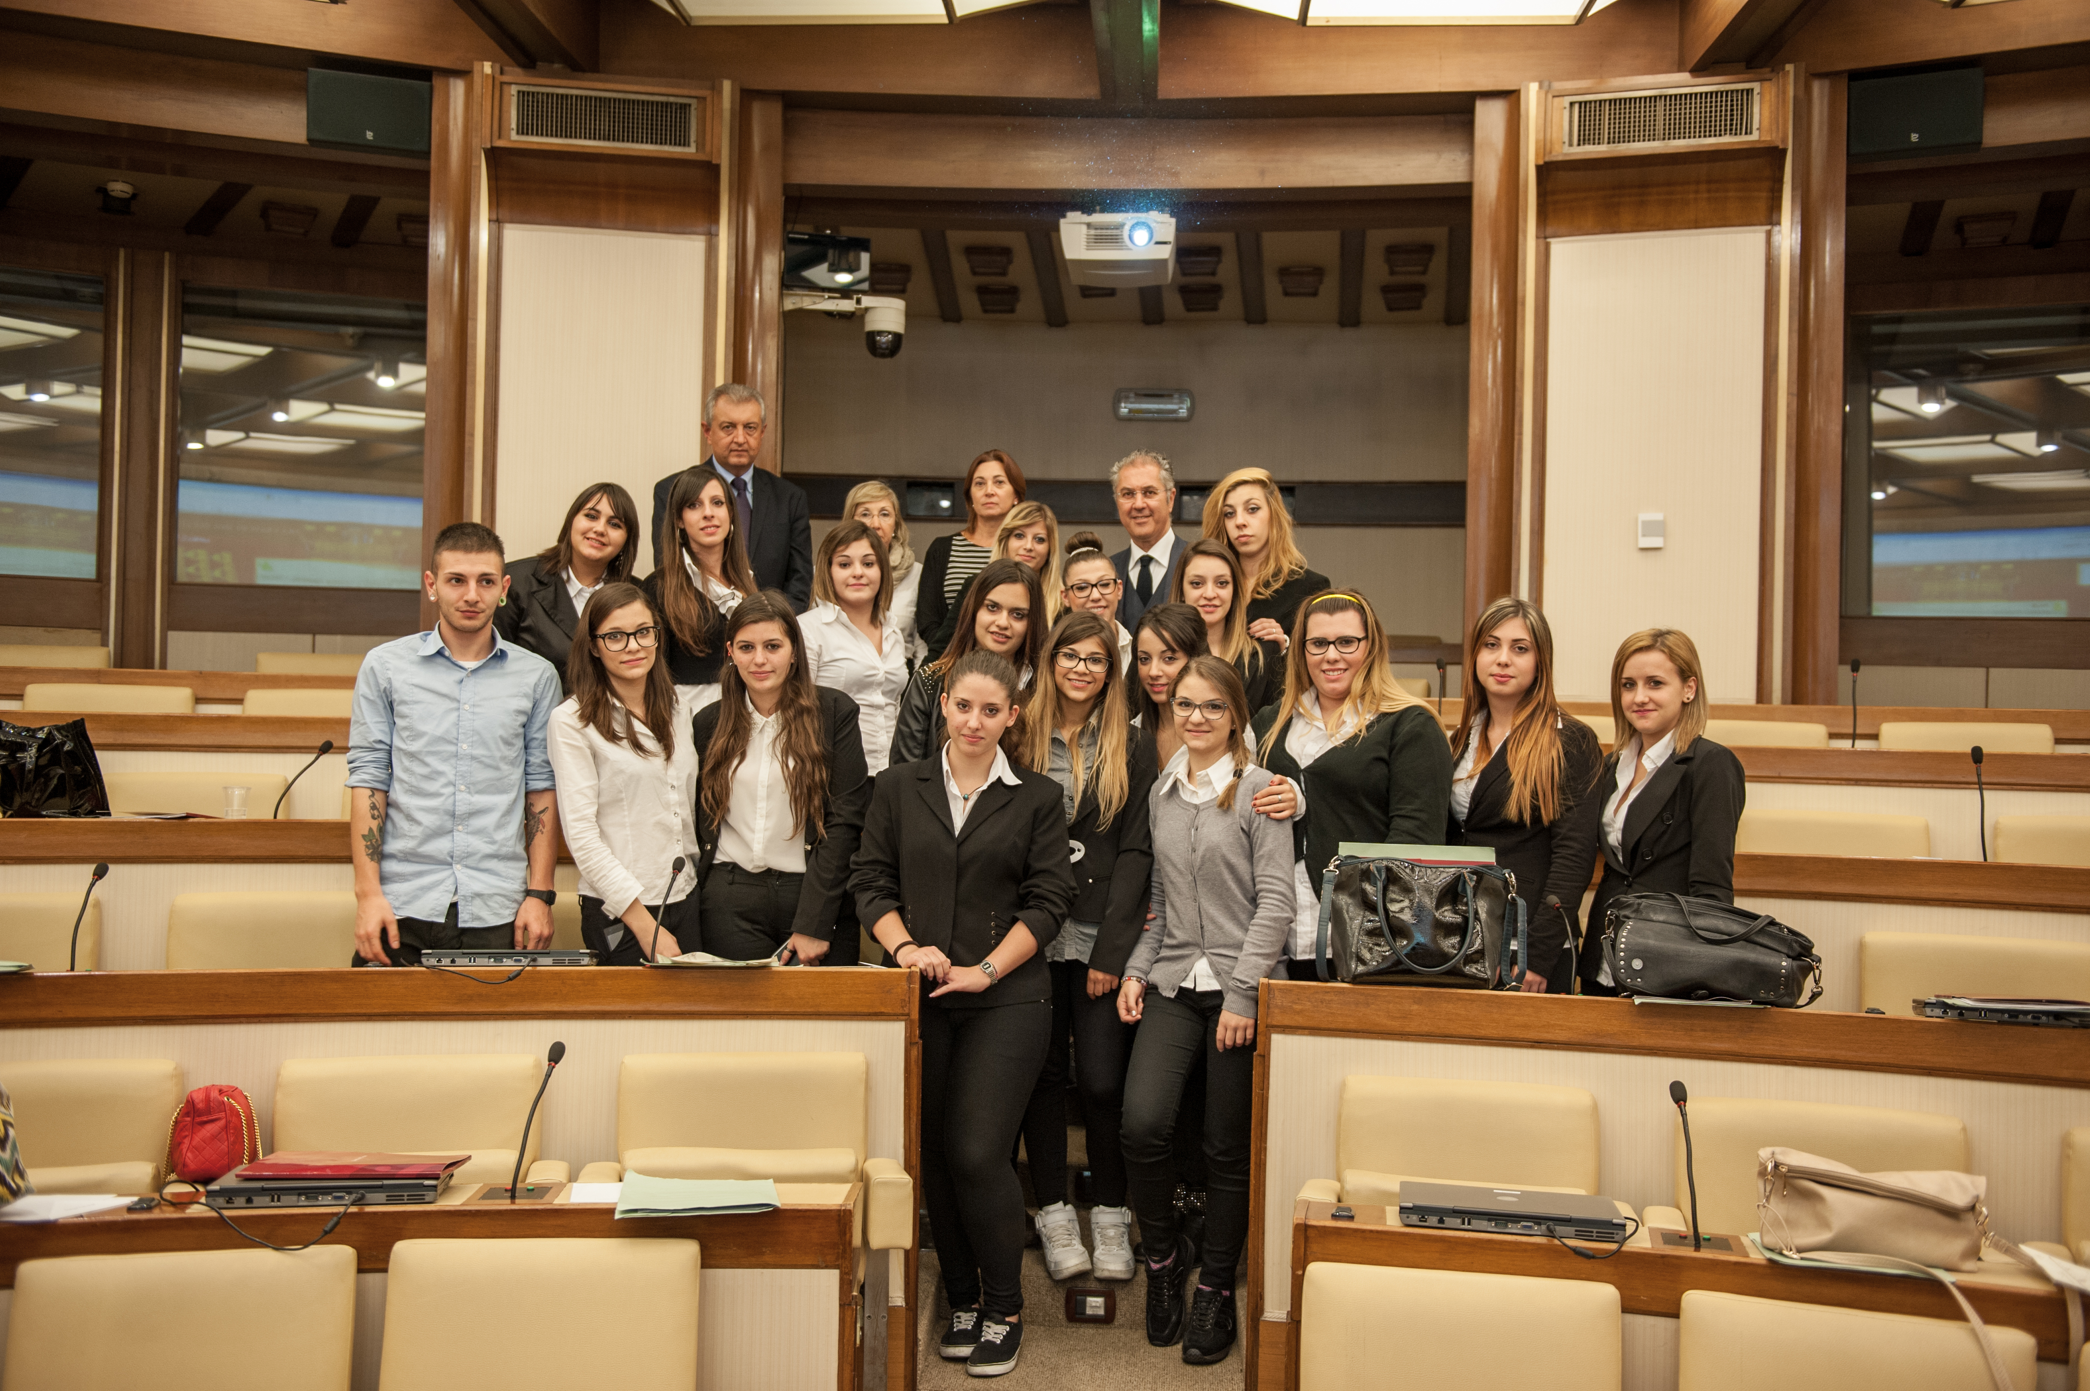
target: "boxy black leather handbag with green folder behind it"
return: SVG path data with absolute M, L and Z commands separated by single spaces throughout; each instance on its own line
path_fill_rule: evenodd
M 1515 989 L 1530 937 L 1515 876 L 1492 864 L 1336 856 L 1321 876 L 1323 981 Z

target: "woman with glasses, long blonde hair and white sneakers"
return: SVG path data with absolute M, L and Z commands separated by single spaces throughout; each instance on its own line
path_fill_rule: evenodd
M 1053 623 L 1045 640 L 1045 676 L 1022 720 L 1022 761 L 1064 789 L 1066 835 L 1074 851 L 1074 908 L 1045 950 L 1051 1046 L 1024 1115 L 1030 1192 L 1039 1203 L 1039 1238 L 1053 1280 L 1091 1270 L 1104 1280 L 1133 1278 L 1133 1211 L 1127 1207 L 1124 1155 L 1118 1148 L 1133 1029 L 1118 1019 L 1116 1000 L 1124 958 L 1133 954 L 1147 918 L 1154 749 L 1133 738 L 1116 638 L 1114 619 L 1085 609 Z M 1093 1261 L 1068 1203 L 1070 1050 L 1089 1123 Z

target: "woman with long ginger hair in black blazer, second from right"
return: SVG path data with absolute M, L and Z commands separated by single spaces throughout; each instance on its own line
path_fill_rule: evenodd
M 1597 839 L 1576 807 L 1597 784 L 1603 747 L 1553 697 L 1553 628 L 1536 605 L 1494 600 L 1465 651 L 1473 669 L 1450 736 L 1457 761 L 1444 845 L 1490 845 L 1515 876 L 1532 931 L 1524 989 L 1572 989 L 1565 948 L 1597 866 Z

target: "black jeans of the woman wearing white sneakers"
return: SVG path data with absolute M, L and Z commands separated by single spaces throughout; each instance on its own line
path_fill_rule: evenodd
M 1066 1081 L 1072 1052 L 1081 1109 L 1089 1123 L 1089 1199 L 1097 1207 L 1124 1207 L 1124 1150 L 1118 1125 L 1124 1115 L 1124 1065 L 1133 1029 L 1118 1019 L 1118 991 L 1089 998 L 1089 962 L 1049 962 L 1051 1042 L 1045 1069 L 1024 1111 L 1024 1155 L 1030 1192 L 1039 1207 L 1066 1203 Z

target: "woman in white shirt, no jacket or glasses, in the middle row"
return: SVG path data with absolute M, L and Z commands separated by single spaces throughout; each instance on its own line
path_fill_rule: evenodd
M 907 640 L 892 615 L 886 548 L 861 521 L 844 521 L 819 542 L 813 607 L 798 619 L 805 669 L 815 686 L 857 703 L 863 766 L 876 776 L 892 753 L 892 722 L 907 688 Z

